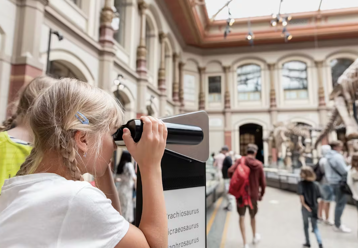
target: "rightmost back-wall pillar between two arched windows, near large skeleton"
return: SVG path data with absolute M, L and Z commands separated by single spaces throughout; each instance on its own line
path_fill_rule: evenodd
M 323 87 L 323 61 L 314 61 L 317 68 L 317 79 L 318 79 L 318 113 L 319 113 L 319 125 L 323 127 L 326 124 L 327 109 L 324 97 Z M 328 137 L 323 137 L 321 144 L 328 144 Z

